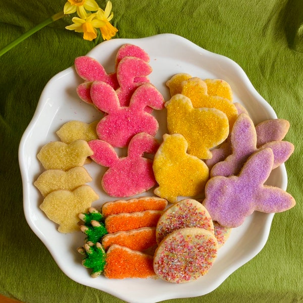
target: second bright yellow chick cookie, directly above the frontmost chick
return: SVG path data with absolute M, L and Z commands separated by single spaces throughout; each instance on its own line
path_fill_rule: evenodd
M 228 119 L 217 109 L 195 109 L 191 100 L 183 94 L 174 95 L 166 102 L 165 107 L 169 132 L 185 137 L 190 155 L 210 159 L 210 149 L 222 143 L 228 136 Z

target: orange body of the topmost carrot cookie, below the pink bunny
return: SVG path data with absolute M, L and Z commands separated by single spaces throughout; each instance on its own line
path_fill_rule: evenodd
M 166 199 L 160 197 L 139 197 L 107 202 L 102 207 L 102 214 L 107 217 L 119 213 L 133 213 L 147 210 L 163 211 L 166 207 Z

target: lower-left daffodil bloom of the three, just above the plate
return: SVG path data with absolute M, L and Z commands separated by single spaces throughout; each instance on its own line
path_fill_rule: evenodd
M 74 17 L 72 19 L 74 23 L 65 28 L 74 30 L 78 33 L 83 33 L 84 40 L 91 41 L 95 39 L 97 37 L 97 30 L 95 28 L 105 26 L 103 20 L 96 19 L 96 14 L 87 14 L 85 10 L 79 11 L 79 17 Z

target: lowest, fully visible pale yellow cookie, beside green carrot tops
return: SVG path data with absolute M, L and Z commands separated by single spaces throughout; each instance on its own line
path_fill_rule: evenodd
M 73 191 L 60 189 L 49 193 L 40 205 L 46 216 L 59 224 L 58 231 L 71 233 L 79 231 L 78 214 L 84 213 L 98 195 L 88 185 L 82 185 Z

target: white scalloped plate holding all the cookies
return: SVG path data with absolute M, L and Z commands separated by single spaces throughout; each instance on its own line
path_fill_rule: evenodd
M 252 86 L 244 71 L 232 60 L 208 52 L 177 35 L 160 34 L 140 39 L 113 39 L 100 43 L 87 55 L 97 59 L 108 72 L 114 71 L 115 56 L 118 48 L 132 43 L 143 48 L 150 56 L 153 72 L 150 82 L 169 99 L 165 82 L 176 73 L 188 73 L 200 78 L 221 78 L 226 80 L 234 93 L 234 102 L 239 102 L 247 109 L 255 124 L 270 118 L 277 118 L 274 110 Z M 49 141 L 59 140 L 56 131 L 70 120 L 86 123 L 100 117 L 96 110 L 81 102 L 76 94 L 76 87 L 82 79 L 70 67 L 46 84 L 41 94 L 36 112 L 20 142 L 19 163 L 23 180 L 24 213 L 26 220 L 51 252 L 58 266 L 74 281 L 106 291 L 131 303 L 151 303 L 171 298 L 193 297 L 207 294 L 216 289 L 230 274 L 254 258 L 264 247 L 273 219 L 273 214 L 255 212 L 245 223 L 232 230 L 226 244 L 220 248 L 218 257 L 207 275 L 184 284 L 173 284 L 160 279 L 124 279 L 112 280 L 103 276 L 91 278 L 89 270 L 81 265 L 81 255 L 76 248 L 83 245 L 81 232 L 62 234 L 57 225 L 39 209 L 42 197 L 33 185 L 43 168 L 36 155 L 40 148 Z M 158 137 L 166 132 L 163 113 L 157 114 L 161 122 Z M 161 116 L 162 115 L 162 116 Z M 93 181 L 88 183 L 100 198 L 92 206 L 99 207 L 107 200 L 100 189 L 100 167 L 95 163 L 86 165 Z M 287 174 L 285 166 L 275 169 L 268 181 L 286 190 Z M 146 193 L 153 195 L 152 192 Z

